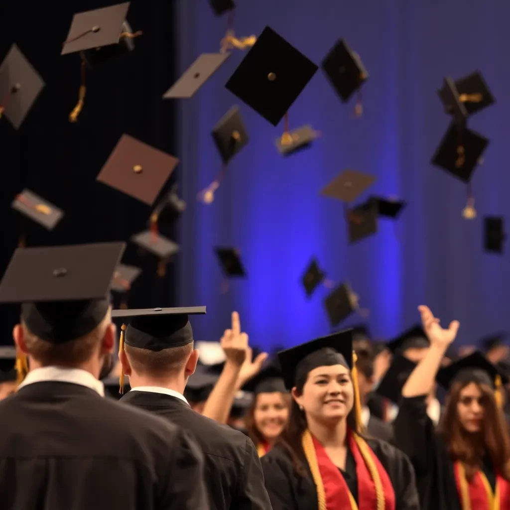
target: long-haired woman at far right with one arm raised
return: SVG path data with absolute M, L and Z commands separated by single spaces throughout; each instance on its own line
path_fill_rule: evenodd
M 422 508 L 510 508 L 510 443 L 499 406 L 507 378 L 481 352 L 440 368 L 459 324 L 443 329 L 427 307 L 419 310 L 431 346 L 403 386 L 394 427 L 415 467 Z M 436 378 L 448 389 L 438 429 L 425 404 Z

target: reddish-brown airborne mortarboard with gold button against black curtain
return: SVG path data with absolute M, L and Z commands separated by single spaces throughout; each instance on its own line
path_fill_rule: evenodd
M 179 160 L 129 135 L 122 135 L 97 181 L 151 206 Z

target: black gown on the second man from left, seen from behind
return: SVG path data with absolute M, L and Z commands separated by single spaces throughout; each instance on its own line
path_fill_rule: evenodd
M 205 478 L 212 510 L 268 510 L 269 496 L 259 455 L 239 430 L 202 416 L 180 398 L 130 391 L 120 402 L 141 407 L 186 427 L 205 458 Z

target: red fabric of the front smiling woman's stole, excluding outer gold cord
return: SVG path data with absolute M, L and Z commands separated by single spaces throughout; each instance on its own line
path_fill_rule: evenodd
M 331 462 L 324 447 L 312 436 L 319 472 L 326 496 L 326 510 L 355 509 L 351 504 L 350 491 L 340 470 Z M 358 510 L 374 510 L 377 508 L 375 485 L 363 455 L 354 440 L 352 433 L 348 433 L 349 449 L 356 463 L 356 476 L 358 477 Z M 385 510 L 395 510 L 395 492 L 388 473 L 382 467 L 375 453 L 368 447 L 367 450 L 377 468 L 385 495 Z

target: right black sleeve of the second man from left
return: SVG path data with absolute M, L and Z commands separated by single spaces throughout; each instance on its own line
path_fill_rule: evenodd
M 232 508 L 236 510 L 271 510 L 259 455 L 249 438 L 246 438 L 244 465 L 238 487 L 237 497 Z

